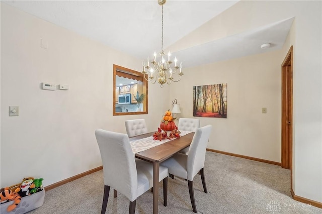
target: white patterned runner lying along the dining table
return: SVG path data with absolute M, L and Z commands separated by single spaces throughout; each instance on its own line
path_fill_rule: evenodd
M 190 131 L 181 131 L 181 130 L 179 130 L 179 131 L 180 131 L 180 136 L 185 136 L 185 135 L 191 133 Z M 142 138 L 142 139 L 134 140 L 134 141 L 131 141 L 131 139 L 130 139 L 130 144 L 132 147 L 133 154 L 135 154 L 135 153 L 147 150 L 149 148 L 158 146 L 160 144 L 167 143 L 167 142 L 174 140 L 174 139 L 176 139 L 176 138 L 163 139 L 162 141 L 159 141 L 159 140 L 153 140 L 153 136 L 150 136 L 147 138 Z

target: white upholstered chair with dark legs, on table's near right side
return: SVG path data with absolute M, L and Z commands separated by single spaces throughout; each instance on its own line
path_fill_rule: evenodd
M 207 125 L 196 130 L 188 155 L 177 153 L 170 159 L 160 163 L 160 165 L 168 168 L 170 174 L 188 180 L 190 200 L 194 212 L 197 212 L 197 208 L 193 191 L 193 179 L 198 172 L 201 175 L 203 189 L 208 193 L 204 175 L 204 163 L 211 128 L 211 125 Z

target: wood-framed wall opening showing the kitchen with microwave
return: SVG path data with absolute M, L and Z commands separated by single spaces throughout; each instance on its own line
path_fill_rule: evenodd
M 137 92 L 145 94 L 138 105 Z M 113 65 L 113 115 L 147 114 L 147 81 L 143 74 L 119 65 Z

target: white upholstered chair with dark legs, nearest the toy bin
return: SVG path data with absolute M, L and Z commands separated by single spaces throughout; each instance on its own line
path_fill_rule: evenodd
M 106 211 L 110 187 L 130 200 L 129 213 L 134 213 L 136 198 L 153 186 L 153 164 L 134 159 L 127 134 L 97 129 L 95 136 L 101 152 L 104 174 L 101 214 Z M 163 180 L 164 205 L 167 206 L 167 167 L 159 168 L 159 181 L 161 180 Z

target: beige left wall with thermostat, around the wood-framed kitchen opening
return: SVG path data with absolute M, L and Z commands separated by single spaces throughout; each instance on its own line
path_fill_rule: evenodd
M 148 115 L 112 116 L 113 64 L 140 71 L 140 60 L 1 6 L 2 187 L 29 176 L 47 186 L 101 166 L 97 128 L 126 133 L 125 120 L 136 118 L 148 118 L 149 131 L 158 127 L 169 87 L 149 87 Z M 69 90 L 42 90 L 42 82 Z M 9 117 L 10 105 L 19 117 Z

